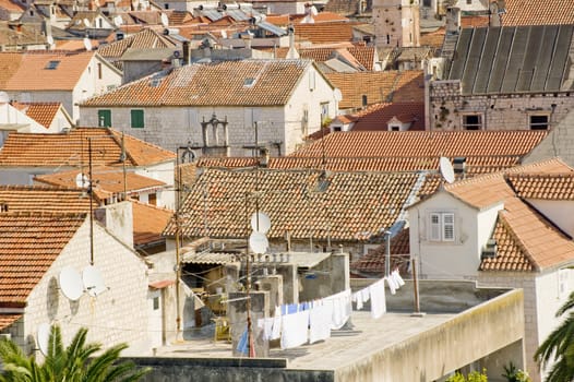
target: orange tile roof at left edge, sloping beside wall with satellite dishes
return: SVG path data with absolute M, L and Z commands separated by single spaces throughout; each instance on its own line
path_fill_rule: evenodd
M 25 303 L 85 214 L 0 214 L 0 306 Z

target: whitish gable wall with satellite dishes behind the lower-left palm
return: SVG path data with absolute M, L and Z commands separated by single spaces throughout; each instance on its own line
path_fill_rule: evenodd
M 89 222 L 76 231 L 63 251 L 34 288 L 25 310 L 26 337 L 36 337 L 41 323 L 59 323 L 64 344 L 76 331 L 88 329 L 87 342 L 104 347 L 128 343 L 122 355 L 148 351 L 146 296 L 147 267 L 130 248 L 111 237 L 99 224 L 94 225 L 95 265 L 108 290 L 97 298 L 85 295 L 70 301 L 60 291 L 58 275 L 64 266 L 77 272 L 89 264 Z M 31 344 L 27 344 L 31 350 Z M 36 354 L 39 356 L 39 354 Z

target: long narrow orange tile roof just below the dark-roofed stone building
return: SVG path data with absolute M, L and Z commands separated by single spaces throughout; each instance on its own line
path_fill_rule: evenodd
M 516 156 L 529 153 L 547 131 L 350 131 L 328 134 L 291 156 L 439 157 Z

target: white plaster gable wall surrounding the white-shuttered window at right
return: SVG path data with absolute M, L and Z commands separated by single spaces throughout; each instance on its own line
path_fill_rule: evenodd
M 454 241 L 428 239 L 431 212 L 455 214 Z M 440 279 L 477 277 L 480 264 L 478 231 L 479 226 L 486 225 L 486 217 L 479 219 L 477 213 L 477 210 L 446 192 L 438 192 L 426 202 L 409 208 L 410 253 L 411 256 L 418 258 L 421 277 Z

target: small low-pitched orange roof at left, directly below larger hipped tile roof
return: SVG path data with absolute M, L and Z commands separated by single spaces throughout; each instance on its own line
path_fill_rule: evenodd
M 87 174 L 86 168 L 84 168 L 83 171 L 84 174 Z M 53 172 L 36 176 L 34 180 L 49 186 L 74 188 L 76 187 L 75 178 L 79 174 L 81 174 L 80 169 Z M 144 177 L 133 171 L 127 171 L 124 177 L 121 167 L 93 167 L 92 178 L 94 180 L 94 191 L 98 194 L 99 199 L 106 199 L 111 194 L 122 193 L 124 186 L 128 193 L 163 188 L 166 186 L 166 183 L 159 180 Z

